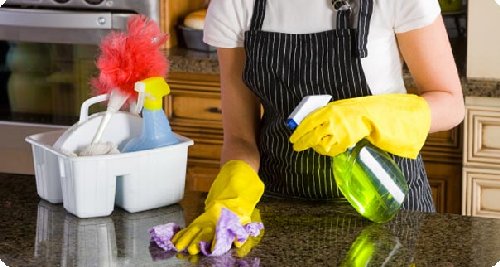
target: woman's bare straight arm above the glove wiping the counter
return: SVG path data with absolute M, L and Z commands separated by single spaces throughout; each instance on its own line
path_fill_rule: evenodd
M 260 155 L 257 133 L 260 105 L 255 95 L 243 83 L 244 48 L 219 48 L 222 125 L 224 142 L 221 164 L 233 159 L 244 160 L 256 171 Z

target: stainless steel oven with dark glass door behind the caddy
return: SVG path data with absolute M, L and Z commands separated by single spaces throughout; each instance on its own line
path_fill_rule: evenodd
M 7 0 L 0 8 L 0 172 L 33 173 L 25 137 L 78 121 L 98 44 L 161 0 Z M 91 112 L 103 110 L 93 107 Z

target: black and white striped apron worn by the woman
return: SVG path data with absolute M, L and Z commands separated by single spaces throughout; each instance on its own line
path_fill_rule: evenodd
M 330 94 L 335 101 L 371 95 L 361 57 L 367 54 L 373 0 L 354 1 L 352 9 L 332 9 L 332 14 L 337 13 L 336 29 L 285 34 L 261 30 L 266 0 L 255 0 L 250 29 L 245 32 L 243 79 L 264 107 L 259 175 L 268 194 L 316 200 L 343 197 L 333 178 L 331 158 L 312 149 L 295 152 L 285 121 L 304 96 Z M 394 159 L 410 187 L 403 208 L 434 211 L 421 156 Z

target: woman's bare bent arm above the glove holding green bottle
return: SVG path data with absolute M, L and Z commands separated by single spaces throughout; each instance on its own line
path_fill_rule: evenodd
M 431 109 L 429 132 L 458 125 L 464 118 L 464 100 L 443 18 L 396 37 L 418 92 Z

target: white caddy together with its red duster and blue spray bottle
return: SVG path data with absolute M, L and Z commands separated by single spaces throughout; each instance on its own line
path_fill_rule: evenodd
M 169 93 L 163 78 L 168 62 L 160 50 L 165 41 L 157 24 L 133 16 L 127 33 L 103 40 L 100 74 L 92 81 L 98 95 L 82 104 L 80 120 L 66 131 L 26 138 L 42 199 L 91 218 L 110 215 L 115 205 L 133 213 L 183 198 L 193 141 L 171 131 L 161 108 Z M 106 111 L 89 116 L 89 106 L 103 101 Z M 127 102 L 131 111 L 120 111 Z M 124 150 L 132 143 L 134 149 Z

